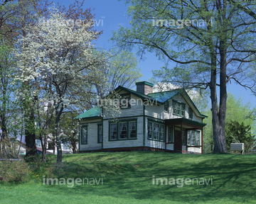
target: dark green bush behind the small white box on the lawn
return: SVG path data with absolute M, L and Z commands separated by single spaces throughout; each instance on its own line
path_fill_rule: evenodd
M 245 125 L 243 122 L 239 123 L 235 120 L 230 120 L 226 123 L 225 133 L 228 151 L 231 143 L 245 143 L 245 152 L 248 152 L 255 143 L 251 129 L 250 125 Z

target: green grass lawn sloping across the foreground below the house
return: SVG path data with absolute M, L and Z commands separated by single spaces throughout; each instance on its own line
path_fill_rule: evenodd
M 43 185 L 48 164 L 26 183 L 1 183 L 0 203 L 256 203 L 256 154 L 100 152 L 63 155 L 53 177 L 103 179 L 100 185 Z M 58 168 L 58 169 L 57 169 Z M 153 185 L 152 179 L 212 179 L 212 185 Z M 102 184 L 102 185 L 101 185 Z

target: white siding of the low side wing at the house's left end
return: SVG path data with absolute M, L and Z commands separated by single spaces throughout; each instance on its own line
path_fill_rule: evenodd
M 102 120 L 85 120 L 86 123 L 80 123 L 80 128 L 82 125 L 87 125 L 87 144 L 81 144 L 80 137 L 80 151 L 90 151 L 102 149 L 102 144 L 97 142 L 97 124 L 101 124 Z M 85 122 L 83 121 L 83 122 Z

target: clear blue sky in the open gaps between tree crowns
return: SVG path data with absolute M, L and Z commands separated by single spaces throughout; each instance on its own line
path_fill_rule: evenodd
M 55 0 L 54 2 L 59 2 L 60 4 L 68 7 L 68 5 L 74 1 Z M 129 27 L 129 19 L 126 14 L 127 6 L 124 4 L 124 0 L 85 0 L 83 7 L 85 9 L 94 8 L 92 13 L 95 13 L 95 28 L 97 30 L 103 30 L 102 35 L 96 41 L 96 46 L 103 47 L 104 50 L 114 47 L 114 45 L 112 45 L 109 41 L 112 37 L 112 31 L 117 30 L 120 25 Z M 153 77 L 151 71 L 154 69 L 160 69 L 162 66 L 164 66 L 164 64 L 159 62 L 154 54 L 147 53 L 144 60 L 139 60 L 138 67 L 142 69 L 141 72 L 143 74 L 141 80 L 149 80 L 151 77 Z M 252 106 L 255 106 L 256 96 L 252 96 L 249 90 L 245 90 L 242 86 L 235 84 L 235 81 L 232 81 L 232 84 L 228 84 L 228 91 L 234 94 L 236 98 L 241 97 L 243 103 L 250 102 Z

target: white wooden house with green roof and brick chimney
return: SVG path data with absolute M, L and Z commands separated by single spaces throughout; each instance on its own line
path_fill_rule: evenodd
M 121 114 L 102 117 L 94 107 L 80 118 L 79 151 L 125 151 L 151 149 L 166 152 L 203 153 L 203 118 L 184 89 L 153 93 L 146 81 L 137 91 L 119 86 Z

